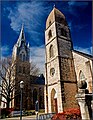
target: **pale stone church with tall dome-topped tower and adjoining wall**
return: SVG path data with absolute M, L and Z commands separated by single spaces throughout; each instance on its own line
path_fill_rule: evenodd
M 55 7 L 45 30 L 45 112 L 62 112 L 78 108 L 77 82 L 85 80 L 92 92 L 92 56 L 73 49 L 65 16 Z

